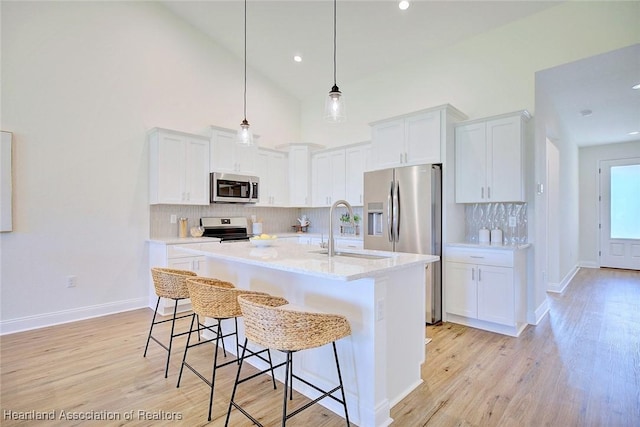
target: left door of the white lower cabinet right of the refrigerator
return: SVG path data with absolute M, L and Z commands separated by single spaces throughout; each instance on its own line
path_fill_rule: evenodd
M 477 269 L 473 264 L 445 262 L 447 313 L 478 316 Z

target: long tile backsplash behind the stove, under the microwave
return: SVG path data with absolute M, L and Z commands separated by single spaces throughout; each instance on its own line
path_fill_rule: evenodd
M 362 207 L 354 207 L 354 213 L 362 217 Z M 340 221 L 337 218 L 346 212 L 343 207 L 334 212 L 335 233 L 339 233 Z M 293 225 L 298 224 L 298 218 L 307 215 L 311 225 L 309 233 L 327 234 L 329 230 L 329 208 L 276 208 L 259 207 L 243 204 L 220 203 L 209 206 L 185 206 L 185 205 L 150 205 L 149 237 L 167 238 L 178 236 L 178 224 L 171 224 L 171 215 L 177 218 L 188 218 L 188 229 L 199 225 L 203 216 L 212 217 L 246 217 L 251 227 L 251 216 L 255 215 L 258 221 L 263 223 L 263 232 L 269 234 L 293 233 Z

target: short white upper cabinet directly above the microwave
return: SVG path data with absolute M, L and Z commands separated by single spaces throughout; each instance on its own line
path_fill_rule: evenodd
M 256 175 L 257 155 L 257 146 L 236 143 L 236 132 L 211 126 L 211 172 Z

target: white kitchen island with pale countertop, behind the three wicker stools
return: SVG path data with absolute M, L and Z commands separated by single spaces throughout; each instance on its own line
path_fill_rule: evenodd
M 389 425 L 393 421 L 390 408 L 422 382 L 425 267 L 439 257 L 351 250 L 352 254 L 382 258 L 329 258 L 318 253 L 318 247 L 284 241 L 265 248 L 246 242 L 191 244 L 176 249 L 206 256 L 209 277 L 230 281 L 241 289 L 282 296 L 297 306 L 346 316 L 352 334 L 336 344 L 349 418 L 354 424 Z M 244 340 L 242 322 L 239 329 Z M 284 360 L 277 351 L 272 355 L 274 362 Z M 331 346 L 296 353 L 294 366 L 300 376 L 325 389 L 337 382 Z M 284 372 L 276 374 L 280 381 L 283 376 Z M 313 389 L 303 386 L 294 382 L 301 393 L 317 397 Z M 332 399 L 321 403 L 343 415 L 341 405 Z

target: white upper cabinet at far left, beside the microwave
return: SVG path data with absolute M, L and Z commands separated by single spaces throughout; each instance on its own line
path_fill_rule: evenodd
M 148 138 L 149 203 L 209 205 L 209 138 L 159 128 Z

